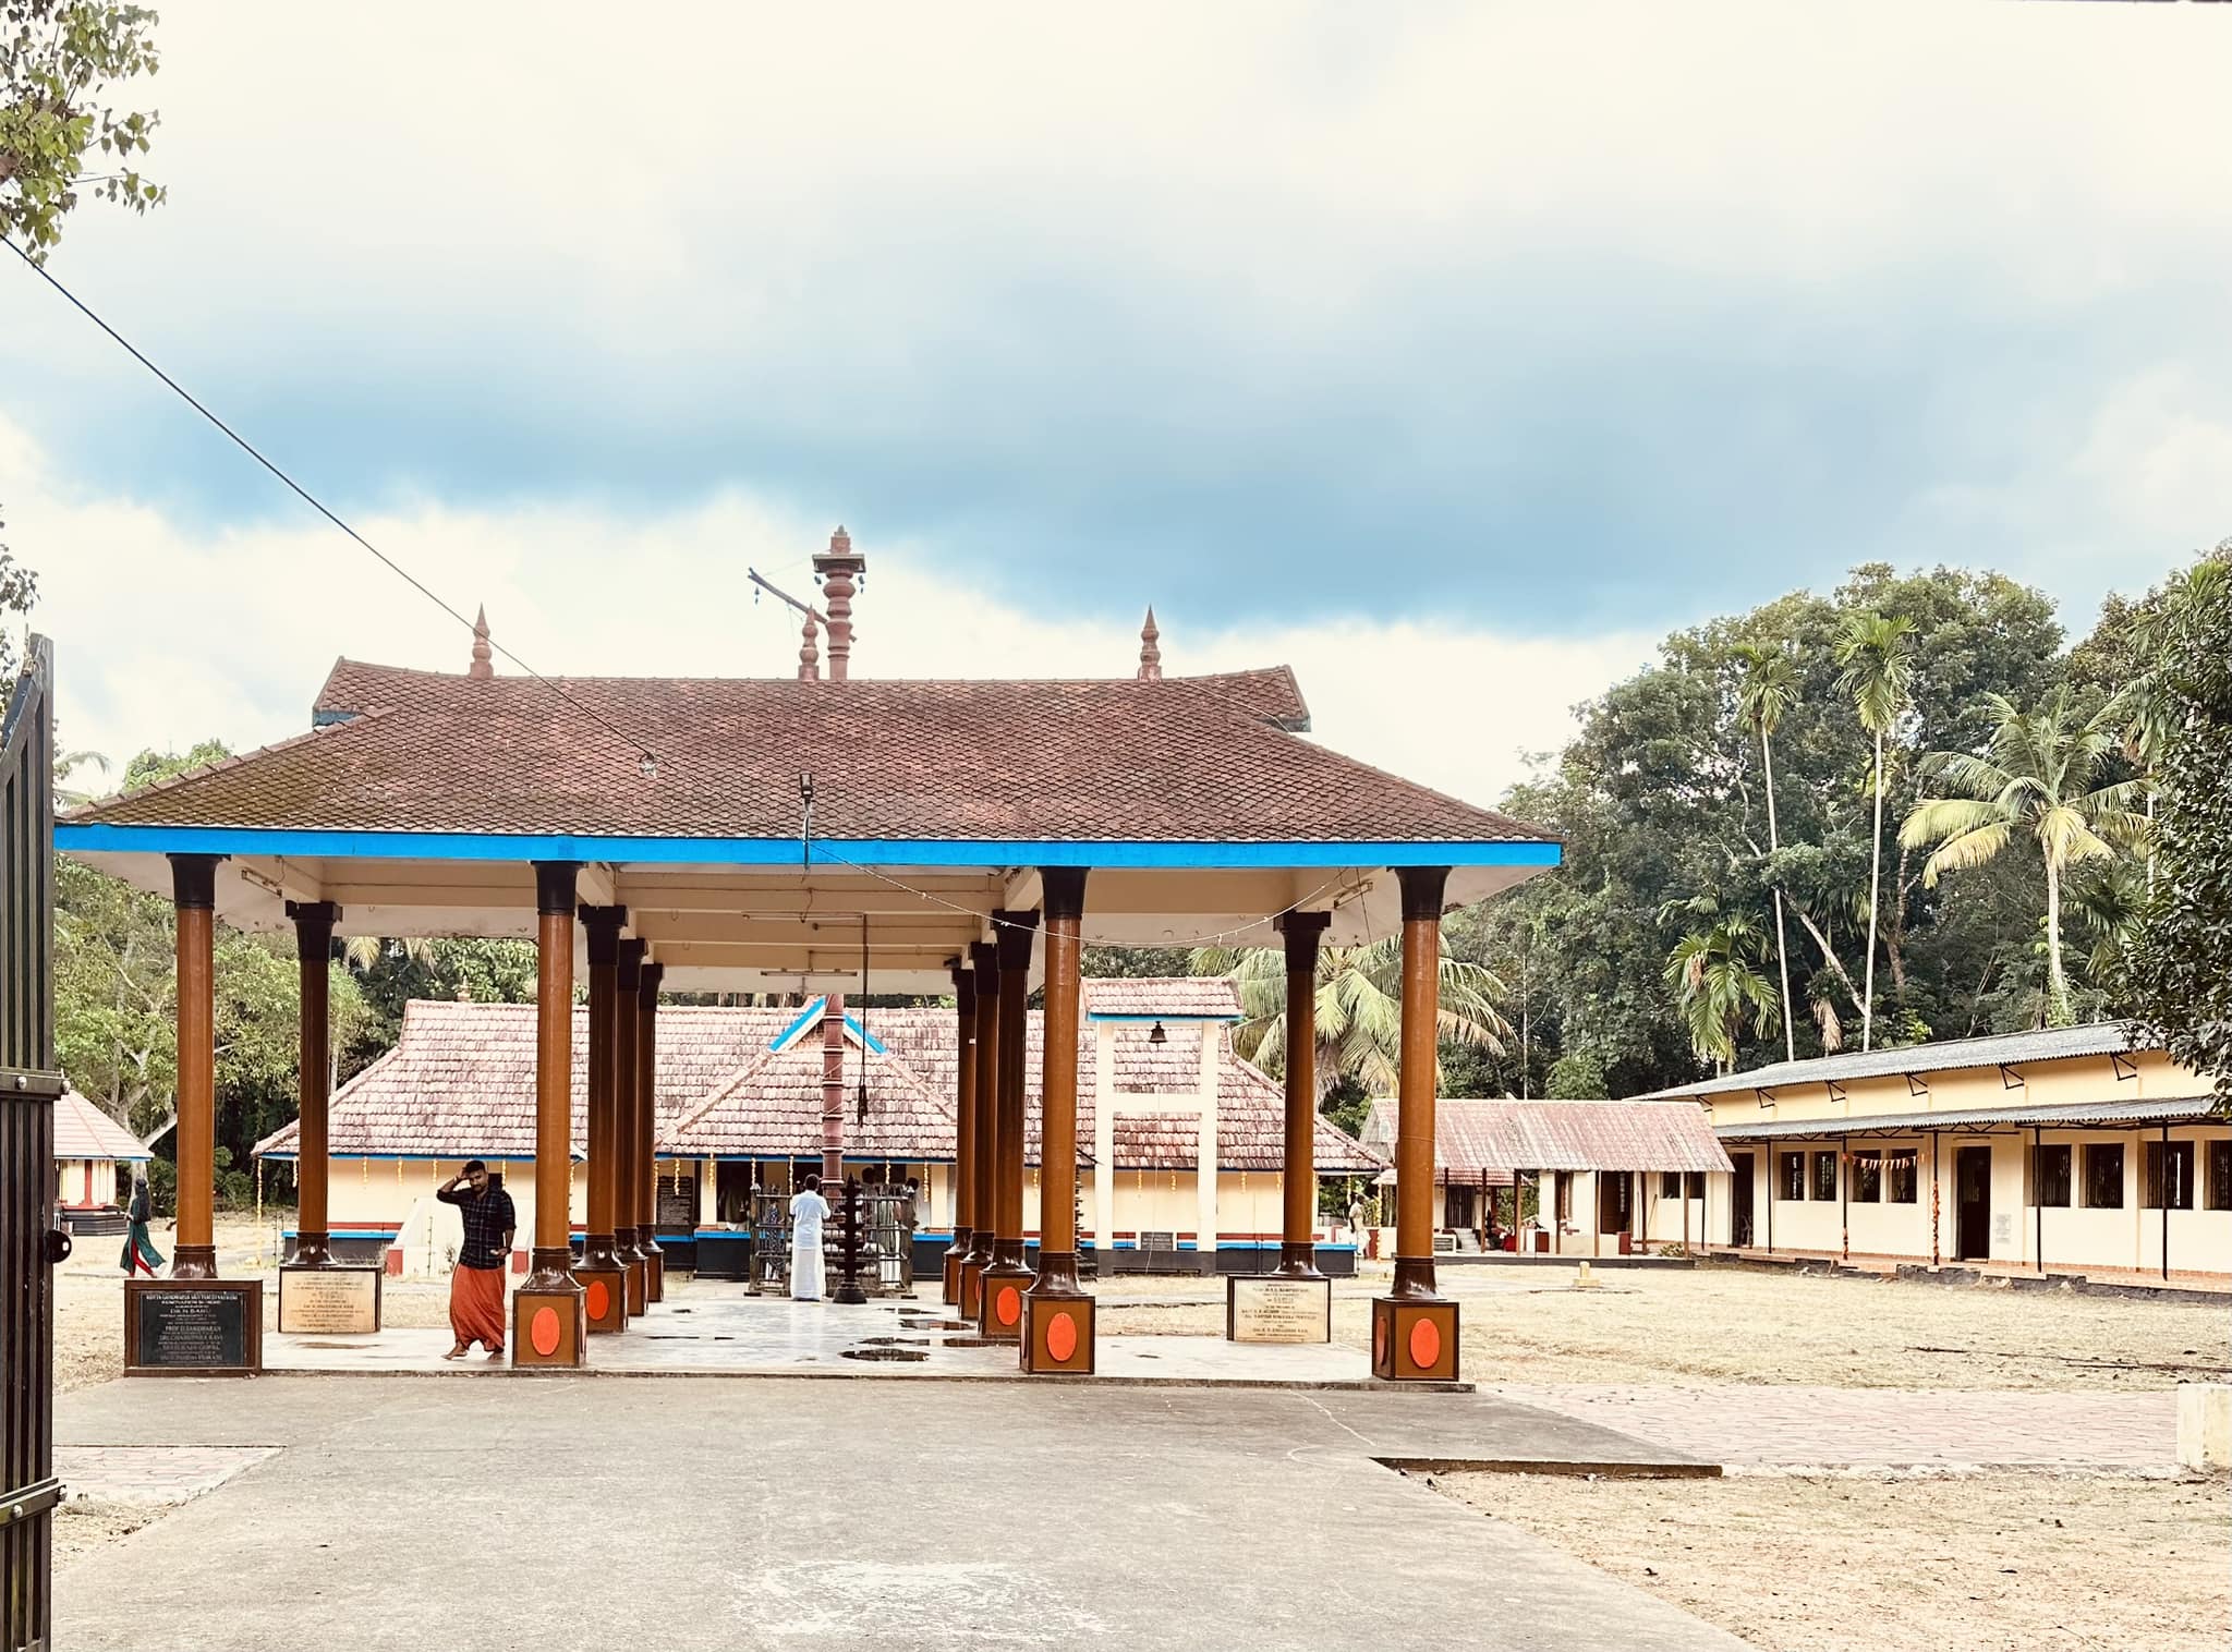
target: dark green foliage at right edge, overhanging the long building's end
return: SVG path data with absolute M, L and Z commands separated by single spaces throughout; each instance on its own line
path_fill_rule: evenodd
M 2134 1007 L 2232 1112 L 2232 542 L 2145 627 L 2167 705 L 2156 877 L 2129 947 Z

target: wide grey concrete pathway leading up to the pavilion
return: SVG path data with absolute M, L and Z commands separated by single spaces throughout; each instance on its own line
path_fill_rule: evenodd
M 1373 1462 L 1647 1456 L 1473 1395 L 179 1380 L 67 1395 L 60 1435 L 272 1449 L 58 1574 L 74 1652 L 1741 1652 Z

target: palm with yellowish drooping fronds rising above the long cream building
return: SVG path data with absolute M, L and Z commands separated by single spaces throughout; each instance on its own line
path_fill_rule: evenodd
M 2118 748 L 2127 708 L 2123 697 L 2085 714 L 2069 688 L 2056 688 L 2036 712 L 2004 694 L 1989 694 L 1993 723 L 1984 757 L 1931 752 L 1926 772 L 1944 781 L 1944 797 L 1924 797 L 1899 826 L 1908 848 L 1933 844 L 1922 866 L 1924 886 L 1966 866 L 1982 866 L 2018 833 L 2038 842 L 2047 871 L 2047 1005 L 2056 1025 L 2069 1025 L 2069 976 L 2062 971 L 2062 880 L 2071 866 L 2114 859 L 2116 848 L 2147 842 L 2140 813 L 2145 781 L 2100 786 L 2107 757 Z

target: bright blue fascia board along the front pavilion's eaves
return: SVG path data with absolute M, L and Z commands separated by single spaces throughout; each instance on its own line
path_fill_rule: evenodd
M 576 837 L 558 833 L 359 833 L 270 826 L 114 826 L 56 822 L 54 846 L 76 855 L 321 855 L 355 859 L 634 859 L 676 866 L 1556 866 L 1553 842 L 1205 844 L 1047 842 L 993 837 Z

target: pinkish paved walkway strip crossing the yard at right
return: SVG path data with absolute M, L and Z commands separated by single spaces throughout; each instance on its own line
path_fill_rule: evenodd
M 2172 1471 L 2174 1393 L 1495 1384 L 1540 1406 L 1728 1467 Z

